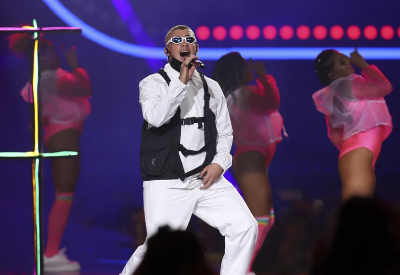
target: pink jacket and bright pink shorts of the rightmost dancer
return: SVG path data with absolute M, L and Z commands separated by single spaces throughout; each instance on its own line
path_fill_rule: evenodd
M 383 96 L 392 85 L 375 66 L 334 80 L 313 94 L 314 103 L 326 116 L 328 137 L 339 149 L 339 159 L 347 152 L 365 147 L 379 156 L 382 142 L 392 131 L 391 116 Z

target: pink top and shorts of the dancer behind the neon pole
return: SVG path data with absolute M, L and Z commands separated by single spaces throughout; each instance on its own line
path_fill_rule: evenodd
M 44 71 L 39 84 L 45 143 L 66 129 L 76 129 L 81 133 L 84 120 L 91 112 L 88 100 L 91 86 L 86 71 L 82 68 L 72 73 L 61 68 Z M 21 96 L 32 102 L 30 82 L 22 88 Z

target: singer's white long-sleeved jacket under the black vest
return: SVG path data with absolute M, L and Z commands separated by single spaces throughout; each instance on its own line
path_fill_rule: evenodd
M 178 106 L 181 109 L 182 119 L 203 117 L 204 88 L 199 73 L 195 71 L 191 80 L 185 85 L 178 78 L 179 72 L 175 71 L 169 64 L 165 65 L 164 70 L 171 79 L 169 85 L 158 73 L 147 76 L 139 83 L 139 103 L 142 107 L 143 118 L 147 121 L 149 127 L 160 127 L 168 123 L 175 115 Z M 230 149 L 233 141 L 228 108 L 219 84 L 208 77 L 205 77 L 205 79 L 211 95 L 210 108 L 215 114 L 218 131 L 217 153 L 212 163 L 218 163 L 226 171 L 232 165 Z M 198 150 L 205 145 L 204 127 L 200 129 L 197 127 L 197 124 L 182 126 L 180 143 L 185 148 Z M 188 172 L 203 164 L 206 152 L 186 157 L 179 152 L 179 156 L 184 171 Z M 188 179 L 190 180 L 192 177 Z M 145 181 L 144 186 L 150 182 L 152 184 L 163 182 L 163 187 L 182 187 L 182 182 L 179 179 Z

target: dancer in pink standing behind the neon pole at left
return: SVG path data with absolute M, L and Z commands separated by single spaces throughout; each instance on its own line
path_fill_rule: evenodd
M 30 34 L 13 34 L 9 37 L 10 49 L 33 60 L 33 40 Z M 63 49 L 72 72 L 60 68 L 60 57 L 51 41 L 40 38 L 40 94 L 44 143 L 47 151 L 77 151 L 74 157 L 52 158 L 53 181 L 56 200 L 48 218 L 47 243 L 43 265 L 45 271 L 79 270 L 78 262 L 70 261 L 60 250 L 67 225 L 75 186 L 80 171 L 79 137 L 84 121 L 91 112 L 88 98 L 91 86 L 86 71 L 78 67 L 76 48 Z M 23 99 L 32 103 L 32 85 L 26 83 L 21 91 Z

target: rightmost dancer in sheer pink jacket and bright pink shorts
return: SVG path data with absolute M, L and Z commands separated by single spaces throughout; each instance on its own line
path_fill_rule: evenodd
M 362 75 L 354 73 L 352 64 Z M 339 149 L 342 201 L 352 196 L 371 197 L 375 191 L 374 166 L 382 142 L 392 130 L 383 98 L 392 85 L 357 48 L 350 57 L 334 49 L 322 51 L 315 60 L 315 71 L 325 87 L 312 97 L 326 117 L 329 139 Z

